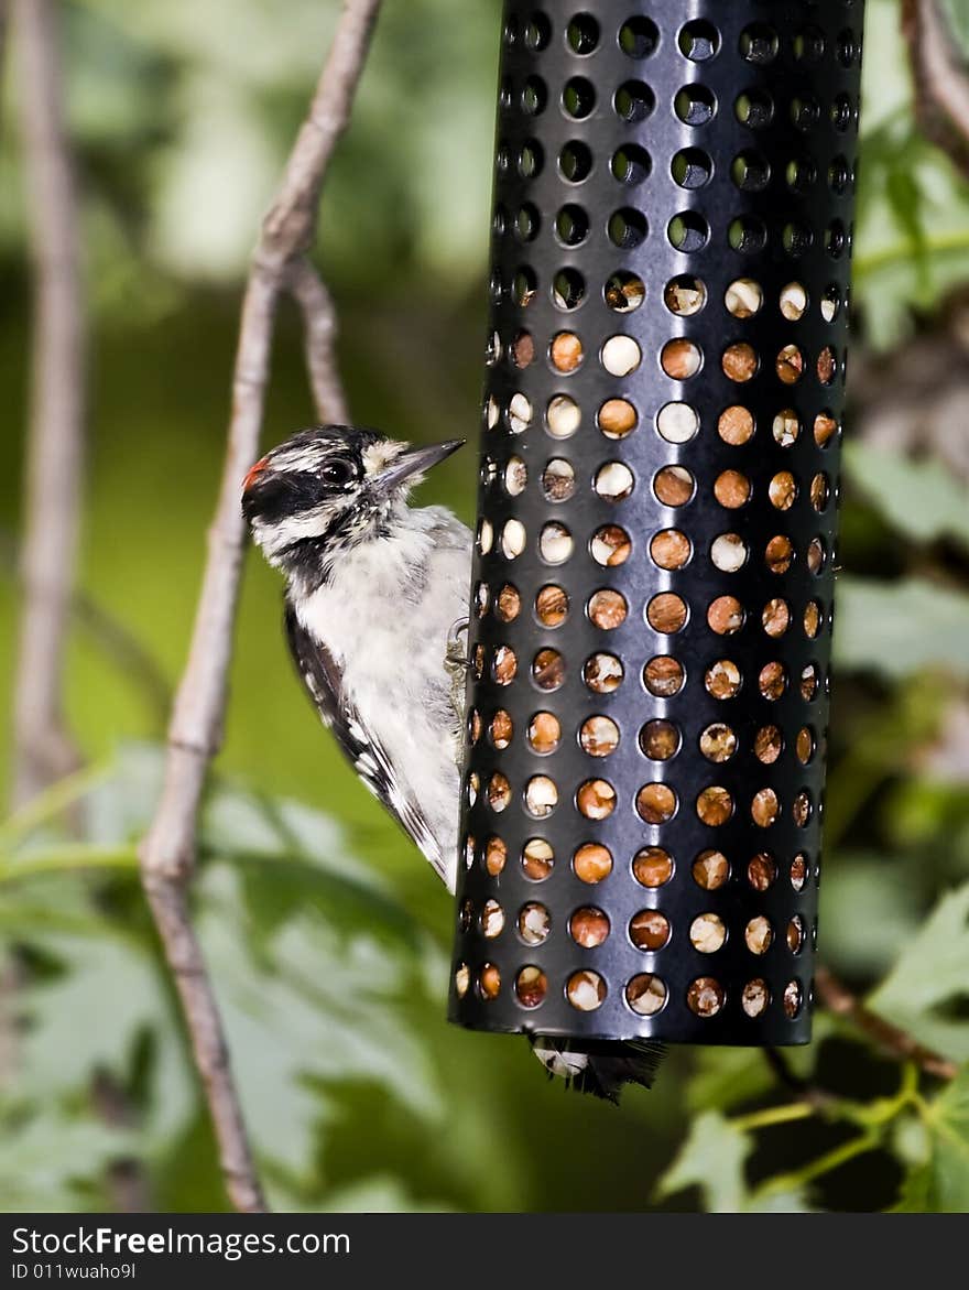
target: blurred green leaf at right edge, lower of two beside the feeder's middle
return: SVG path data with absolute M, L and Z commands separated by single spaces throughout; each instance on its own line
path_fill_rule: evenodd
M 835 662 L 901 680 L 925 667 L 969 673 L 969 596 L 921 578 L 874 582 L 848 574 L 835 592 Z

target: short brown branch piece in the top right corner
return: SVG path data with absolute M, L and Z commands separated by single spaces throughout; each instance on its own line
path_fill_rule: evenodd
M 937 0 L 903 0 L 902 30 L 911 49 L 919 124 L 969 175 L 969 71 Z

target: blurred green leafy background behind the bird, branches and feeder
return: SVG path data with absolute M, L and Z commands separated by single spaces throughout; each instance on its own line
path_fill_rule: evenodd
M 66 677 L 83 769 L 0 826 L 0 1207 L 218 1210 L 213 1140 L 134 844 L 199 590 L 246 257 L 338 5 L 57 9 L 90 319 Z M 964 63 L 969 9 L 941 0 L 939 12 Z M 317 259 L 354 414 L 418 441 L 477 423 L 498 17 L 498 0 L 388 0 L 324 194 Z M 821 951 L 881 1015 L 965 1062 L 969 182 L 957 148 L 954 161 L 916 121 L 897 0 L 868 0 L 866 27 Z M 6 46 L 9 730 L 31 209 L 23 74 L 15 41 Z M 312 421 L 301 343 L 286 306 L 267 446 Z M 458 455 L 425 498 L 470 520 L 472 476 Z M 547 1085 L 524 1042 L 448 1027 L 449 898 L 323 737 L 290 676 L 280 590 L 250 553 L 195 894 L 275 1206 L 969 1206 L 965 1076 L 939 1094 L 845 1022 L 819 1017 L 815 1042 L 794 1057 L 841 1109 L 773 1127 L 757 1117 L 791 1094 L 757 1051 L 677 1051 L 655 1090 L 628 1093 L 617 1112 Z M 9 748 L 0 739 L 0 774 Z

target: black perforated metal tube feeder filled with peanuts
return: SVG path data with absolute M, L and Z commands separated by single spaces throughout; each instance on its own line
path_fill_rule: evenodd
M 506 0 L 450 1018 L 810 1037 L 862 0 Z

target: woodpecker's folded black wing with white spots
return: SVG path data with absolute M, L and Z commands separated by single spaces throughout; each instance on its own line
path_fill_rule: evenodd
M 339 667 L 326 649 L 298 620 L 286 604 L 286 639 L 293 662 L 316 704 L 323 724 L 333 731 L 343 755 L 370 792 L 419 846 L 439 877 L 446 882 L 446 866 L 437 838 L 419 804 L 401 784 L 379 742 L 368 734 L 360 715 L 343 691 Z

